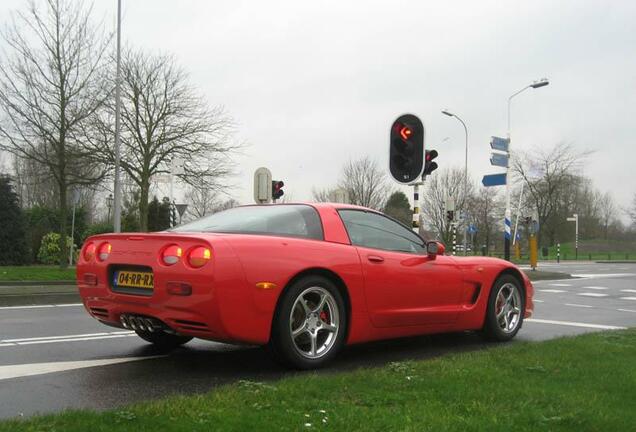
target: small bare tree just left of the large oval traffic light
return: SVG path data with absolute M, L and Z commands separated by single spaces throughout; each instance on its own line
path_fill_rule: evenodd
M 350 160 L 345 164 L 339 186 L 349 192 L 351 204 L 377 210 L 384 207 L 384 203 L 392 192 L 386 173 L 380 169 L 375 160 L 368 156 Z

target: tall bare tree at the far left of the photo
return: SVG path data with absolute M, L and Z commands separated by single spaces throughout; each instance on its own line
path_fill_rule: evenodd
M 108 39 L 81 2 L 31 1 L 3 32 L 0 61 L 0 147 L 46 168 L 57 188 L 60 256 L 66 263 L 67 192 L 93 184 L 103 171 L 87 163 L 82 126 L 101 106 L 99 72 Z M 63 266 L 65 264 L 62 264 Z

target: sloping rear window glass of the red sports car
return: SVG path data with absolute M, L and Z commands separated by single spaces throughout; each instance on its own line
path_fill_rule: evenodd
M 289 204 L 235 207 L 170 231 L 270 234 L 323 239 L 318 212 L 308 205 Z

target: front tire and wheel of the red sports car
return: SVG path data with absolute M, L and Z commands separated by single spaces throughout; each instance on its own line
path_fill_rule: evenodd
M 493 341 L 509 341 L 523 324 L 526 295 L 519 280 L 509 274 L 499 276 L 488 298 L 483 333 Z

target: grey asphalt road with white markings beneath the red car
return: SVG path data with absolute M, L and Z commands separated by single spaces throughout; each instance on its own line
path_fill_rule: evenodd
M 576 279 L 535 282 L 536 310 L 515 341 L 636 326 L 636 264 L 542 264 Z M 479 335 L 408 338 L 347 348 L 327 371 L 483 349 Z M 0 307 L 0 418 L 107 409 L 220 384 L 293 375 L 262 348 L 192 341 L 161 355 L 99 324 L 78 304 Z

